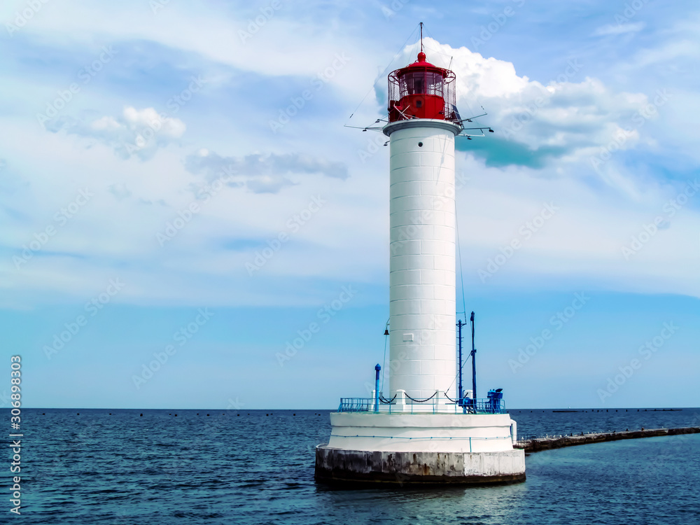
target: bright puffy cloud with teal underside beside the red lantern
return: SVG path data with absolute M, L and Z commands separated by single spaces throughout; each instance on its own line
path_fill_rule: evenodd
M 648 102 L 644 94 L 615 92 L 586 76 L 586 64 L 577 59 L 563 64 L 561 73 L 547 83 L 540 83 L 518 76 L 511 62 L 486 58 L 465 47 L 451 48 L 431 38 L 426 38 L 425 45 L 428 61 L 436 65 L 447 66 L 441 62 L 451 57 L 461 116 L 483 113 L 480 106 L 489 113 L 465 127 L 493 127 L 491 143 L 477 146 L 481 148 L 477 154 L 495 165 L 541 167 L 552 159 L 588 158 L 619 130 L 633 127 L 631 118 Z M 411 50 L 405 49 L 405 62 L 415 60 L 409 56 Z M 637 141 L 638 134 L 632 132 L 624 148 Z

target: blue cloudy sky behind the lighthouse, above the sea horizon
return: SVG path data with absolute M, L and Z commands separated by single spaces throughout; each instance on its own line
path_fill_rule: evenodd
M 0 405 L 15 355 L 31 407 L 367 396 L 388 148 L 361 128 L 421 21 L 494 130 L 456 141 L 479 390 L 699 406 L 700 8 L 647 0 L 3 1 Z

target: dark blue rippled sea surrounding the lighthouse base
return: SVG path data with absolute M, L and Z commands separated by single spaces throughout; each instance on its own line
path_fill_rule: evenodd
M 700 424 L 700 409 L 510 413 L 526 435 Z M 21 515 L 7 447 L 0 523 L 700 524 L 700 434 L 538 452 L 522 484 L 338 490 L 314 482 L 328 414 L 23 409 Z

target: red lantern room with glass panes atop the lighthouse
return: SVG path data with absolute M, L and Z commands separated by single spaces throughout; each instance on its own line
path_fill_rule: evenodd
M 455 106 L 454 73 L 426 62 L 426 54 L 418 60 L 389 73 L 389 122 L 412 118 L 459 120 Z

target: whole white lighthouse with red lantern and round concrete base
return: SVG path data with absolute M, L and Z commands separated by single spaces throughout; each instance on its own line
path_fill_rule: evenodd
M 388 76 L 389 391 L 341 400 L 328 444 L 316 447 L 317 479 L 525 479 L 500 394 L 479 400 L 457 387 L 454 140 L 463 127 L 454 79 L 426 61 L 422 41 L 417 61 Z

